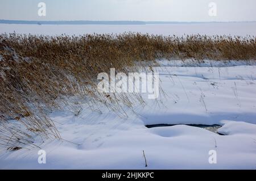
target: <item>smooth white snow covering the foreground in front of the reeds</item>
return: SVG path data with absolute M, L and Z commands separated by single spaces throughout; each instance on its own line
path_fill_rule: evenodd
M 79 116 L 54 111 L 51 118 L 67 141 L 35 138 L 47 153 L 46 164 L 38 163 L 39 148 L 1 148 L 0 168 L 256 169 L 256 66 L 161 62 L 154 70 L 167 95 L 163 104 L 143 95 L 146 106 L 135 104 L 138 114 L 127 110 L 128 118 L 85 105 Z M 178 125 L 149 129 L 148 124 Z M 225 136 L 184 124 L 220 124 L 218 132 Z M 208 161 L 210 150 L 216 150 L 216 164 Z

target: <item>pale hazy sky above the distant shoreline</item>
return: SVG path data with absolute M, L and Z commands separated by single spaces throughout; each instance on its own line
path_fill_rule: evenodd
M 46 16 L 38 16 L 38 3 Z M 217 16 L 209 16 L 210 2 Z M 256 0 L 0 0 L 0 19 L 255 21 Z

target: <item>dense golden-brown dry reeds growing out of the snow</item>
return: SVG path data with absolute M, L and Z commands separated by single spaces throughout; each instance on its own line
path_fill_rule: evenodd
M 84 98 L 88 107 L 101 112 L 97 103 L 125 114 L 140 94 L 100 94 L 98 73 L 139 71 L 138 62 L 161 58 L 195 60 L 256 60 L 255 37 L 120 35 L 34 36 L 0 35 L 0 144 L 31 145 L 31 134 L 60 138 L 47 110 L 71 108 L 71 99 Z M 135 64 L 136 62 L 136 64 Z M 81 110 L 75 115 L 79 115 Z M 8 120 L 27 128 L 22 131 Z M 30 134 L 28 134 L 30 133 Z

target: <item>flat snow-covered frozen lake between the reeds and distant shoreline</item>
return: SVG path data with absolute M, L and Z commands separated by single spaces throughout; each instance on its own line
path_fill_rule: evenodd
M 31 33 L 34 35 L 83 35 L 86 33 L 141 32 L 154 35 L 238 35 L 255 36 L 256 22 L 244 23 L 184 23 L 146 25 L 37 25 L 0 24 L 0 33 Z

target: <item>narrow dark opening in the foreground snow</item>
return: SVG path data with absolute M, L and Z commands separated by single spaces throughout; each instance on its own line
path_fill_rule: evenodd
M 180 125 L 180 124 L 153 124 L 153 125 L 146 125 L 147 128 L 156 128 L 156 127 L 173 127 L 175 125 Z M 214 125 L 204 125 L 204 124 L 185 124 L 191 127 L 197 127 L 197 128 L 203 128 L 207 129 L 210 132 L 217 133 L 220 135 L 224 135 L 221 133 L 218 133 L 218 128 L 221 128 L 221 125 L 214 124 Z

